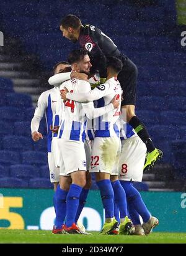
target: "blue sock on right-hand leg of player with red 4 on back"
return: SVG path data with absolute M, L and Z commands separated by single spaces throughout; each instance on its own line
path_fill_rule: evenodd
M 82 187 L 71 184 L 68 195 L 66 197 L 66 226 L 71 227 L 75 223 L 75 218 L 79 206 L 79 197 Z

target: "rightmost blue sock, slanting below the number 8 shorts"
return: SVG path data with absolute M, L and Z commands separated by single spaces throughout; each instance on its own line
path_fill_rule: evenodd
M 133 187 L 133 184 L 130 181 L 120 181 L 120 183 L 125 189 L 126 199 L 130 204 L 130 207 L 138 212 L 138 214 L 142 217 L 143 222 L 148 222 L 151 214 L 149 213 L 146 205 L 144 204 L 138 190 Z

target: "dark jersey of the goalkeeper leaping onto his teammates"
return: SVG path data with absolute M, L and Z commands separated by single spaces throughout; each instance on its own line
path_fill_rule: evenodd
M 107 77 L 107 57 L 122 58 L 122 54 L 110 37 L 106 36 L 100 29 L 92 25 L 81 27 L 78 39 L 81 47 L 89 51 L 92 69 L 99 70 L 100 77 Z

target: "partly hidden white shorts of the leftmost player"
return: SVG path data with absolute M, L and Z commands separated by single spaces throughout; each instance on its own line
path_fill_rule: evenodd
M 50 171 L 50 182 L 58 183 L 60 181 L 60 168 L 56 168 L 53 152 L 48 152 L 48 167 Z

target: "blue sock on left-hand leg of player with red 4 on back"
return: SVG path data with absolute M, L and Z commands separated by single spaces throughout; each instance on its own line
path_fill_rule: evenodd
M 64 223 L 64 219 L 66 216 L 66 196 L 68 191 L 65 191 L 60 188 L 58 185 L 55 194 L 53 196 L 53 204 L 56 212 L 55 225 L 56 229 L 61 229 L 61 225 Z

